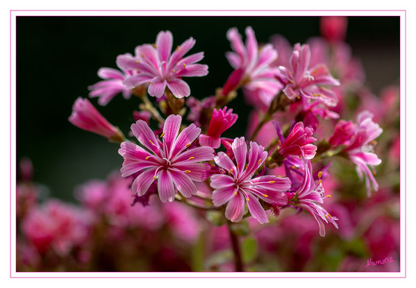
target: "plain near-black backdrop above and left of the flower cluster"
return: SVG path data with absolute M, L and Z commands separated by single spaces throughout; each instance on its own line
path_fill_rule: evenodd
M 319 35 L 318 17 L 17 17 L 17 161 L 31 158 L 35 181 L 49 194 L 73 200 L 76 185 L 105 178 L 119 169 L 117 144 L 85 132 L 67 121 L 78 96 L 88 96 L 88 85 L 99 81 L 100 67 L 116 67 L 121 53 L 153 43 L 160 30 L 170 30 L 174 46 L 189 37 L 197 40 L 190 53 L 205 52 L 208 76 L 187 78 L 192 96 L 214 94 L 231 67 L 228 28 L 244 33 L 252 26 L 258 42 L 275 33 L 292 44 Z M 349 17 L 347 42 L 367 72 L 367 85 L 378 93 L 399 83 L 399 17 Z M 228 136 L 243 135 L 250 108 L 235 99 L 229 106 L 240 115 Z M 116 96 L 98 110 L 125 134 L 133 123 L 138 99 Z

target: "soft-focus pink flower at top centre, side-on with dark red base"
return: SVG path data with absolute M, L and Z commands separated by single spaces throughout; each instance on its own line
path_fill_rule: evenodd
M 277 52 L 272 44 L 266 44 L 259 49 L 251 27 L 246 28 L 246 36 L 244 46 L 237 28 L 231 28 L 227 32 L 227 38 L 234 52 L 227 52 L 226 58 L 235 71 L 228 78 L 223 92 L 229 92 L 242 85 L 244 94 L 249 94 L 249 97 L 255 96 L 264 105 L 269 105 L 282 88 L 281 83 L 276 79 L 278 69 L 270 67 L 277 58 Z

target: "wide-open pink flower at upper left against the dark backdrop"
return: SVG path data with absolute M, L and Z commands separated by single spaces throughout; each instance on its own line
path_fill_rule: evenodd
M 170 31 L 160 31 L 156 37 L 156 44 L 144 44 L 136 47 L 135 58 L 125 55 L 117 57 L 117 65 L 124 69 L 137 71 L 123 83 L 133 89 L 144 83 L 149 83 L 148 92 L 151 96 L 160 98 L 166 87 L 176 98 L 188 97 L 190 87 L 182 77 L 206 76 L 208 66 L 195 64 L 203 58 L 203 52 L 183 58 L 190 51 L 195 40 L 190 37 L 177 46 L 172 53 L 173 36 Z

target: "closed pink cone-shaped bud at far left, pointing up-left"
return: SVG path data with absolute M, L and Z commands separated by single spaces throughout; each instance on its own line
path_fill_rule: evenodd
M 96 133 L 110 140 L 123 139 L 124 136 L 113 125 L 108 123 L 106 118 L 88 101 L 78 97 L 72 106 L 72 114 L 69 122 L 83 130 Z

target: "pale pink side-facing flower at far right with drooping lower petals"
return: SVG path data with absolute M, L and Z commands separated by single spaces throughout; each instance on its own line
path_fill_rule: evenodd
M 370 196 L 370 182 L 374 190 L 378 190 L 378 184 L 369 167 L 377 166 L 381 163 L 374 151 L 374 139 L 383 133 L 383 129 L 372 121 L 372 113 L 363 111 L 357 116 L 358 128 L 356 135 L 344 149 L 349 155 L 349 159 L 356 164 L 358 176 L 365 176 L 365 187 L 367 195 Z

